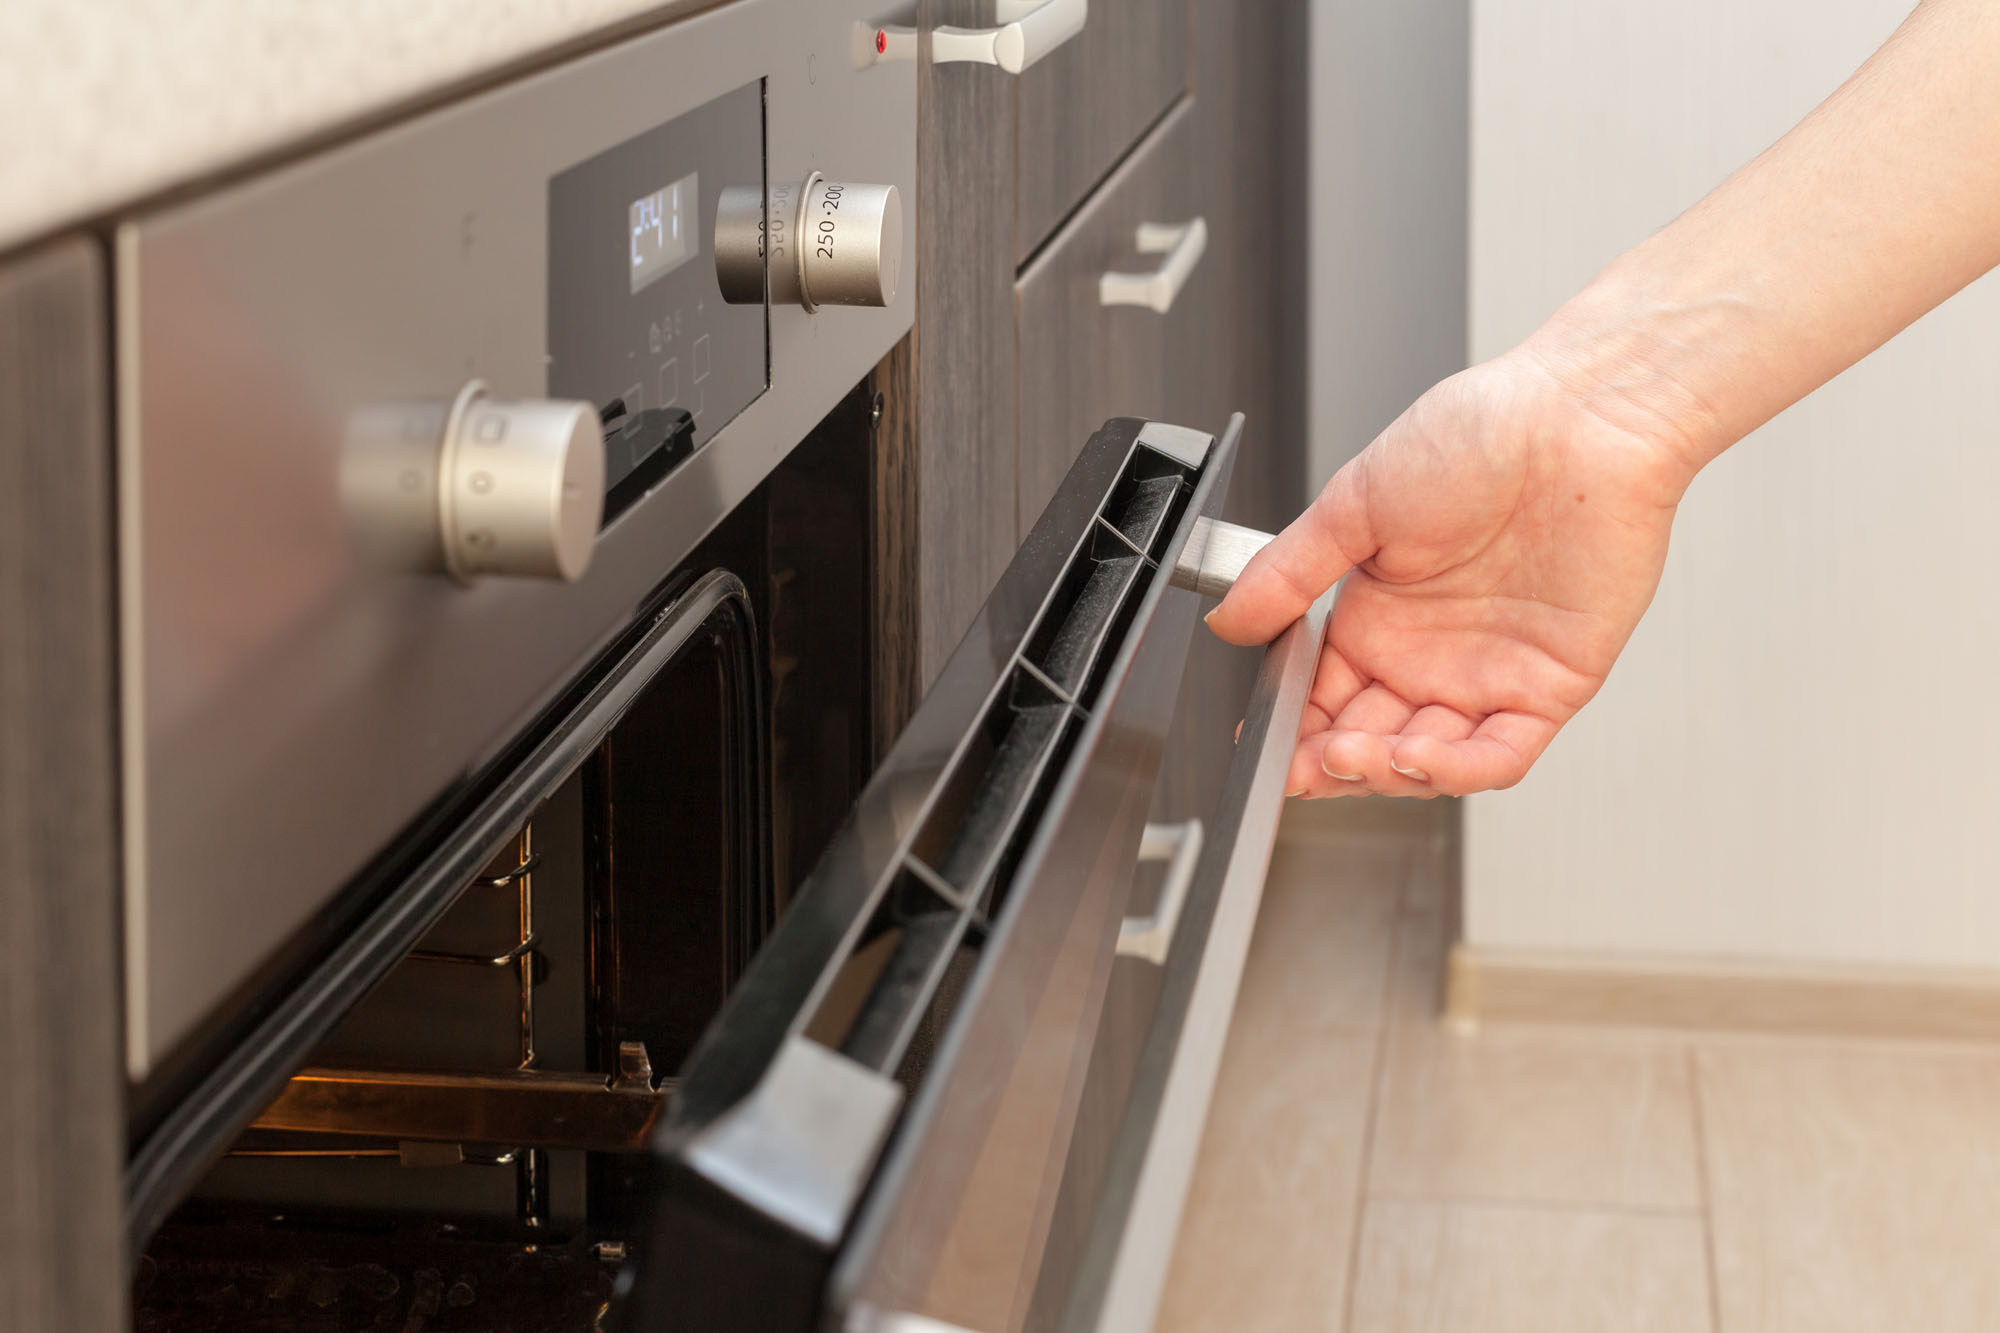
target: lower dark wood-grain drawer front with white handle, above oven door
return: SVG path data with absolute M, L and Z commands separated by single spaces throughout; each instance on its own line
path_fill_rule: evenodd
M 1090 10 L 1096 22 L 1096 6 Z M 1034 66 L 1040 68 L 1040 66 Z M 1104 304 L 1104 274 L 1158 272 L 1174 256 L 1142 254 L 1142 226 L 1182 226 L 1200 218 L 1188 198 L 1194 104 L 1184 98 L 1022 270 L 1014 286 L 1020 348 L 1020 440 L 1016 534 L 1042 514 L 1078 442 L 1108 416 L 1186 420 L 1204 430 L 1202 408 L 1216 400 L 1222 374 L 1208 340 L 1218 328 L 1212 260 L 1198 258 L 1166 310 Z M 1178 412 L 1178 416 L 1176 416 Z

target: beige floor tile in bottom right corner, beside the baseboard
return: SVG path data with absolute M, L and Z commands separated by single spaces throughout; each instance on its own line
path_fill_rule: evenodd
M 1724 1333 L 2000 1329 L 2000 1053 L 1696 1053 Z

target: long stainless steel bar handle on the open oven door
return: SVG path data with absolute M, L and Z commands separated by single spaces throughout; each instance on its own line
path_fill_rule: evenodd
M 1166 971 L 1064 1333 L 1122 1333 L 1154 1323 L 1332 606 L 1328 590 L 1264 650 L 1214 833 L 1182 909 L 1186 929 L 1202 937 L 1202 953 Z

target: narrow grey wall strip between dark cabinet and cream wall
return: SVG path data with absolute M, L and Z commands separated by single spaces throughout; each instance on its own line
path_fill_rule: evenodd
M 1466 362 L 1466 0 L 1312 0 L 1306 494 Z

